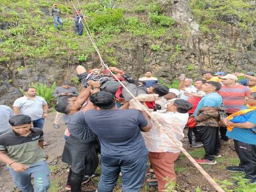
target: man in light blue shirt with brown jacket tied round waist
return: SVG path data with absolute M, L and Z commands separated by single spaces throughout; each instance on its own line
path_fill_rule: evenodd
M 215 157 L 219 157 L 221 145 L 219 142 L 219 113 L 222 98 L 217 93 L 221 89 L 219 82 L 208 81 L 202 85 L 206 95 L 201 99 L 194 111 L 196 120 L 196 137 L 204 144 L 204 158 L 196 160 L 200 164 L 215 165 Z

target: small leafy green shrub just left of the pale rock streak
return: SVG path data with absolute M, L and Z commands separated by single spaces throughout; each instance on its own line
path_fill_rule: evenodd
M 175 20 L 171 17 L 165 15 L 157 15 L 157 13 L 150 13 L 149 20 L 151 21 L 151 24 L 156 26 L 169 27 L 175 24 Z

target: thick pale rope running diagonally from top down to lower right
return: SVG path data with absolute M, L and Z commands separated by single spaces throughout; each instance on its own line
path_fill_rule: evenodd
M 77 0 L 77 1 L 78 1 L 78 0 Z M 74 9 L 77 11 L 77 9 L 76 9 L 76 7 L 75 7 L 75 5 L 74 5 L 74 3 L 73 3 L 72 0 L 71 0 L 71 3 L 73 4 Z M 81 21 L 82 21 L 82 20 L 81 20 Z M 85 21 L 85 20 L 84 20 L 84 21 Z M 85 27 L 85 24 L 87 25 L 87 22 L 85 21 L 85 24 L 82 22 L 82 24 L 83 24 L 83 26 Z M 88 27 L 88 25 L 87 25 L 87 27 Z M 85 30 L 87 31 L 88 37 L 90 38 L 91 43 L 93 43 L 93 46 L 94 46 L 96 52 L 97 52 L 98 55 L 99 55 L 99 59 L 101 60 L 101 65 L 103 65 L 106 69 L 108 69 L 108 71 L 112 74 L 112 76 L 116 77 L 115 74 L 114 74 L 112 71 L 110 71 L 110 69 L 108 68 L 108 66 L 107 66 L 107 65 L 104 63 L 104 61 L 102 60 L 101 54 L 99 53 L 99 50 L 98 50 L 96 44 L 94 43 L 93 37 L 91 37 L 90 32 L 87 30 L 86 27 L 85 27 Z M 133 98 L 138 104 L 140 104 L 140 105 L 143 107 L 143 110 L 144 110 L 149 116 L 151 116 L 152 121 L 154 121 L 154 122 L 160 127 L 160 129 L 162 129 L 162 130 L 166 133 L 166 135 L 168 135 L 168 137 L 171 139 L 171 141 L 172 141 L 173 143 L 175 143 L 176 146 L 177 146 L 177 148 L 180 149 L 180 151 L 183 152 L 183 154 L 188 158 L 188 160 L 190 160 L 191 163 L 193 163 L 194 166 L 196 166 L 196 168 L 201 172 L 201 174 L 205 177 L 205 179 L 207 179 L 208 182 L 209 182 L 217 191 L 219 191 L 219 192 L 224 192 L 224 190 L 222 190 L 222 188 L 219 187 L 218 183 L 216 183 L 215 180 L 212 179 L 212 177 L 196 162 L 196 160 L 194 160 L 194 158 L 191 157 L 191 155 L 188 154 L 188 152 L 187 152 L 184 148 L 182 148 L 181 146 L 179 146 L 179 144 L 177 144 L 177 141 L 174 140 L 174 138 L 172 137 L 172 135 L 170 135 L 170 134 L 168 133 L 168 131 L 162 126 L 162 124 L 160 124 L 160 123 L 157 121 L 157 119 L 155 119 L 154 116 L 152 116 L 151 113 L 149 113 L 148 108 L 144 107 L 144 105 L 141 104 L 141 102 L 138 101 L 137 98 L 135 98 L 135 96 L 133 96 L 133 94 L 126 88 L 126 86 L 125 86 L 118 78 L 116 78 L 116 80 L 118 80 L 118 82 L 123 86 L 123 88 L 130 94 L 130 96 L 132 96 L 132 98 Z

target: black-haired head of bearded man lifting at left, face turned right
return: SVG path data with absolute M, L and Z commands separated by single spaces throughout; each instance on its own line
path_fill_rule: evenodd
M 72 111 L 78 112 L 82 106 L 77 104 L 76 100 L 77 97 L 65 96 L 55 105 L 55 110 L 65 114 L 70 114 Z

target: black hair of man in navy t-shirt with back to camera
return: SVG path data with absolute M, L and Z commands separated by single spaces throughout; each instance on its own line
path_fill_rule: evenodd
M 90 101 L 101 109 L 113 108 L 116 104 L 113 94 L 106 91 L 99 91 L 92 94 Z

